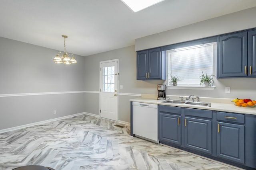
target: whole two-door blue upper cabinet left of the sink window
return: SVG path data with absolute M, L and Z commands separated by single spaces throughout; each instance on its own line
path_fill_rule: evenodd
M 137 80 L 165 80 L 166 57 L 161 49 L 137 52 Z

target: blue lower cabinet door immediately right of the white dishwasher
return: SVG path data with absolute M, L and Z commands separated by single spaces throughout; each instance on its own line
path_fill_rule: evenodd
M 159 141 L 181 145 L 180 116 L 159 113 Z

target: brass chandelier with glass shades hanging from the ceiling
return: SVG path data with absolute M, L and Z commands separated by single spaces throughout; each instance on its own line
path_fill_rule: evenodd
M 68 38 L 68 36 L 62 35 L 62 37 L 64 37 L 64 53 L 62 55 L 61 52 L 58 52 L 56 57 L 54 57 L 53 59 L 54 63 L 64 63 L 64 64 L 76 63 L 76 59 L 74 58 L 74 55 L 68 54 L 66 52 L 66 38 Z M 71 59 L 70 59 L 70 56 L 72 56 Z

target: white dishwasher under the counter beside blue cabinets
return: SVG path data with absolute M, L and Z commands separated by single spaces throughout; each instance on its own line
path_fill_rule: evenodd
M 132 133 L 155 143 L 158 141 L 157 104 L 132 102 Z

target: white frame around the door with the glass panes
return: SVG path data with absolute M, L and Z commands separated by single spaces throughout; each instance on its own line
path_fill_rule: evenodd
M 110 63 L 110 62 L 117 62 L 117 68 L 116 68 L 116 72 L 117 72 L 117 88 L 116 88 L 116 90 L 117 90 L 117 92 L 116 92 L 116 94 L 117 94 L 117 96 L 116 96 L 116 100 L 117 100 L 117 117 L 116 117 L 116 122 L 118 122 L 118 115 L 119 115 L 119 95 L 118 95 L 118 93 L 119 93 L 119 59 L 113 59 L 113 60 L 107 60 L 107 61 L 100 61 L 100 69 L 101 69 L 101 64 L 102 63 Z M 99 69 L 99 70 L 100 70 Z M 101 70 L 100 70 L 100 84 L 99 84 L 99 92 L 100 92 L 100 102 L 99 102 L 99 115 L 100 115 L 100 118 L 101 118 Z M 104 118 L 104 119 L 106 119 L 106 118 Z M 113 121 L 113 120 L 111 120 L 111 121 Z

